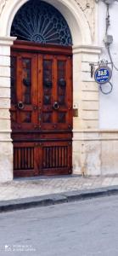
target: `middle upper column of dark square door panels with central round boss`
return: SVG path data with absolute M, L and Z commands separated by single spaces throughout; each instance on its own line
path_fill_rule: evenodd
M 41 63 L 40 63 L 40 60 Z M 40 73 L 40 102 L 41 108 L 39 111 L 39 119 L 41 130 L 53 131 L 53 125 L 55 125 L 55 118 L 53 113 L 53 98 L 55 95 L 54 86 L 54 63 L 53 55 L 39 56 L 39 65 L 41 65 L 42 74 Z

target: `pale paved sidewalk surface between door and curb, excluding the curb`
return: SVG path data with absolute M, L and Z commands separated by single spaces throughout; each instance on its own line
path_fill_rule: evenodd
M 59 177 L 17 178 L 12 182 L 0 183 L 0 201 L 24 199 L 70 191 L 98 189 L 118 185 L 118 176 L 82 177 L 79 175 Z

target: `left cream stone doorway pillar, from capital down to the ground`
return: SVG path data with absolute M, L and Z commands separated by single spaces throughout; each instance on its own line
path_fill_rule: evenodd
M 0 181 L 13 178 L 13 145 L 10 128 L 10 45 L 13 38 L 0 38 Z

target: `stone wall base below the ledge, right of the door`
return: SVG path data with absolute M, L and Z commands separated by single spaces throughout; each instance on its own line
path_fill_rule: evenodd
M 118 131 L 78 131 L 74 143 L 78 150 L 78 154 L 73 152 L 75 173 L 118 174 Z

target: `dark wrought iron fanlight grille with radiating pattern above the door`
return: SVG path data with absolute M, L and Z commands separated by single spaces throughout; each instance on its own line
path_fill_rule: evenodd
M 52 5 L 40 0 L 25 3 L 14 17 L 11 36 L 41 44 L 72 45 L 65 18 Z

